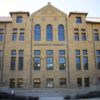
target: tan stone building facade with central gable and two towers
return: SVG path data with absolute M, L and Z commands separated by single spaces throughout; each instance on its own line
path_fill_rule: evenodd
M 100 18 L 69 15 L 50 3 L 33 14 L 0 17 L 0 87 L 100 85 Z

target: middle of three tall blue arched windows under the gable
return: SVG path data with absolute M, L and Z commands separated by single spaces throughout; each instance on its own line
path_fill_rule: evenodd
M 52 41 L 53 40 L 53 30 L 52 25 L 48 24 L 46 27 L 46 40 Z

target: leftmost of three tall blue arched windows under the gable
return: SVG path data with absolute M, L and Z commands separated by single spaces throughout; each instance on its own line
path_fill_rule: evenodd
M 34 28 L 34 40 L 35 41 L 41 40 L 41 26 L 39 24 L 36 24 Z

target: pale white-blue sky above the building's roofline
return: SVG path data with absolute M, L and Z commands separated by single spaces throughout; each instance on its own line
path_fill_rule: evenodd
M 88 17 L 100 17 L 100 0 L 0 0 L 0 16 L 10 16 L 9 12 L 12 11 L 28 11 L 32 14 L 48 2 L 66 14 L 81 11 L 87 12 Z

